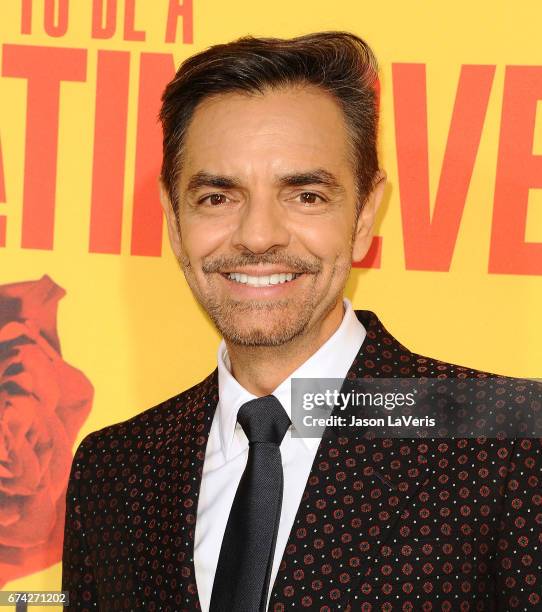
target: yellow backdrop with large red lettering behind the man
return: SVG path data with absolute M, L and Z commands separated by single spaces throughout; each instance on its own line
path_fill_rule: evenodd
M 116 23 L 93 22 L 102 4 L 117 5 Z M 3 2 L 0 285 L 47 275 L 66 292 L 62 357 L 94 387 L 71 450 L 215 367 L 219 337 L 156 222 L 153 91 L 169 62 L 246 34 L 345 29 L 379 59 L 390 184 L 379 265 L 353 270 L 347 287 L 354 307 L 417 352 L 542 377 L 540 23 L 537 0 Z M 3 588 L 60 588 L 59 563 L 32 571 Z

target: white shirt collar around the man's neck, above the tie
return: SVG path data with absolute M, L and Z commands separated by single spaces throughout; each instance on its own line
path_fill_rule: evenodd
M 290 418 L 291 379 L 345 378 L 365 340 L 365 328 L 356 317 L 350 300 L 343 298 L 343 306 L 343 319 L 333 335 L 272 392 L 284 406 Z M 247 446 L 246 437 L 242 430 L 242 435 L 236 436 L 237 412 L 245 402 L 255 399 L 256 395 L 241 386 L 231 374 L 231 362 L 224 340 L 220 342 L 218 347 L 217 362 L 219 435 L 222 452 L 227 460 Z M 237 429 L 240 430 L 240 427 Z M 287 433 L 286 435 L 291 434 Z M 320 443 L 319 438 L 300 439 L 307 449 L 314 449 Z

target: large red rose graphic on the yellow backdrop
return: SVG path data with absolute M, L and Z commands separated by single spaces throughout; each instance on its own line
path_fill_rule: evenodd
M 0 285 L 0 588 L 60 561 L 72 446 L 94 395 L 56 330 L 51 278 Z

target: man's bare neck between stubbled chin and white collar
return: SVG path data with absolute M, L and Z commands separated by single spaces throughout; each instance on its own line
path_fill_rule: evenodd
M 335 333 L 343 318 L 342 298 L 316 329 L 281 346 L 240 346 L 226 341 L 231 372 L 247 391 L 269 395 Z

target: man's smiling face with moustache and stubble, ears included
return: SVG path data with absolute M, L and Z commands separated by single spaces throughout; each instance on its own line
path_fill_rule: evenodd
M 183 147 L 172 248 L 226 341 L 278 346 L 329 335 L 352 259 L 365 255 L 384 180 L 356 218 L 343 114 L 314 87 L 220 94 L 198 105 Z

